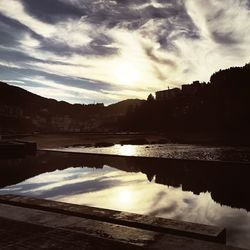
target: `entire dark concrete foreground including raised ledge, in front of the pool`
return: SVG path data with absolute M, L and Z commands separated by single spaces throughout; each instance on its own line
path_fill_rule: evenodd
M 218 227 L 34 198 L 0 196 L 0 248 L 8 249 L 215 249 Z

